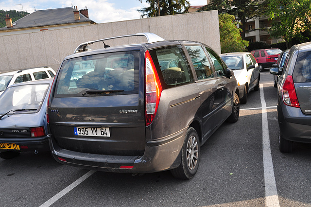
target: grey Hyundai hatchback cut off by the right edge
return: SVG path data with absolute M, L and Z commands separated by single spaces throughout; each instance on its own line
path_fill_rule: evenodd
M 311 42 L 294 45 L 283 71 L 270 72 L 283 75 L 277 99 L 279 149 L 292 152 L 293 141 L 311 143 Z

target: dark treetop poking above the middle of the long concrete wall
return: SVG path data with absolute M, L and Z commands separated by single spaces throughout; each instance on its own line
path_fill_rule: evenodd
M 139 0 L 142 2 L 142 0 Z M 188 13 L 190 3 L 188 0 L 146 0 L 149 7 L 143 7 L 137 11 L 141 13 L 140 17 L 158 17 L 166 15 L 175 15 Z

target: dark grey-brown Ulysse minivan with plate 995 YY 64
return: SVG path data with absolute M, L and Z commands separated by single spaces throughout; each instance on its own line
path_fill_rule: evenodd
M 145 36 L 148 43 L 87 49 L 128 36 Z M 106 172 L 172 170 L 177 178 L 192 178 L 201 145 L 224 121 L 238 121 L 233 71 L 199 42 L 151 33 L 107 39 L 82 43 L 56 73 L 48 103 L 53 157 Z M 72 79 L 75 65 L 85 61 L 94 70 Z

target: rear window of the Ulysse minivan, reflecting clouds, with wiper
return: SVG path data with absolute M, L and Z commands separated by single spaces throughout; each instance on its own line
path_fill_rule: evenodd
M 55 97 L 138 93 L 138 61 L 138 51 L 65 60 L 57 78 Z

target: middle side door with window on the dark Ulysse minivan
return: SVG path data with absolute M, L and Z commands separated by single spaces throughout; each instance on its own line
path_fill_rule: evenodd
M 200 92 L 203 134 L 205 138 L 208 138 L 208 134 L 211 134 L 223 119 L 222 93 L 224 89 L 221 84 L 218 84 L 219 80 L 215 77 L 215 71 L 203 47 L 200 45 L 186 45 L 185 47 L 197 76 L 196 85 Z

